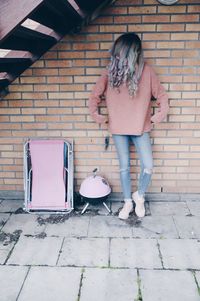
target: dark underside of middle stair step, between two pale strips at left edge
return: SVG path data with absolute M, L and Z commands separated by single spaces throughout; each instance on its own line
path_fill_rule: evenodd
M 40 56 L 56 42 L 57 40 L 50 35 L 19 26 L 3 42 L 0 42 L 0 48 L 26 50 Z

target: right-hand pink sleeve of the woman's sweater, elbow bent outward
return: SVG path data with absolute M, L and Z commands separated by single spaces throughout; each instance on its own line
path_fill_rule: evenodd
M 158 105 L 158 111 L 151 117 L 153 123 L 159 123 L 163 121 L 167 113 L 169 112 L 168 95 L 161 85 L 158 76 L 155 71 L 151 68 L 151 89 L 152 95 L 156 99 Z

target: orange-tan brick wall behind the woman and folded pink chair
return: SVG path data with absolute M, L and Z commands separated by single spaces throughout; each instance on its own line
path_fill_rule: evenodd
M 189 4 L 188 4 L 189 3 Z M 106 126 L 88 114 L 88 96 L 108 63 L 108 49 L 126 31 L 137 32 L 170 97 L 167 121 L 151 132 L 154 174 L 150 192 L 199 192 L 200 5 L 180 0 L 119 0 L 75 36 L 66 36 L 10 86 L 0 102 L 0 189 L 23 190 L 23 143 L 28 137 L 73 138 L 75 183 L 98 167 L 120 192 L 118 160 Z M 105 104 L 101 112 L 106 114 Z M 131 146 L 133 189 L 139 164 Z

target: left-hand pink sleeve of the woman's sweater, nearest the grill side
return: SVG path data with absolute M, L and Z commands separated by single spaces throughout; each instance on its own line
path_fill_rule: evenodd
M 89 112 L 92 118 L 97 123 L 105 123 L 107 120 L 106 116 L 103 116 L 98 112 L 98 105 L 102 101 L 101 96 L 104 94 L 107 88 L 107 81 L 107 71 L 104 70 L 99 79 L 97 80 L 96 85 L 94 86 L 92 93 L 89 97 Z

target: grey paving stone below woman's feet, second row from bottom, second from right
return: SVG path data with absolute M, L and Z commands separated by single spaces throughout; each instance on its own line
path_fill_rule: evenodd
M 110 266 L 121 268 L 162 268 L 155 239 L 113 238 Z

